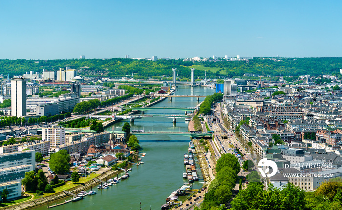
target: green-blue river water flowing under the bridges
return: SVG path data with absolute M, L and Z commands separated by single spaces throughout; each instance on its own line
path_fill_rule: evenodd
M 189 87 L 180 85 L 174 95 L 212 95 L 214 89 L 205 87 Z M 200 98 L 200 101 L 204 98 Z M 156 104 L 154 107 L 194 107 L 198 104 L 197 98 L 169 98 Z M 182 114 L 179 110 L 149 110 L 146 114 Z M 121 130 L 125 121 L 114 124 L 106 130 Z M 177 119 L 174 125 L 171 118 L 151 117 L 135 120 L 131 130 L 145 131 L 188 131 L 188 124 L 184 119 Z M 140 201 L 142 210 L 160 210 L 165 199 L 177 190 L 186 179 L 183 155 L 187 153 L 189 137 L 178 135 L 147 135 L 138 136 L 144 164 L 133 166 L 128 179 L 120 181 L 106 190 L 96 189 L 97 194 L 86 196 L 85 199 L 71 202 L 53 208 L 54 210 L 139 210 Z M 159 141 L 163 140 L 163 141 Z M 200 188 L 202 181 L 195 181 L 194 188 Z M 45 210 L 46 206 L 38 208 Z

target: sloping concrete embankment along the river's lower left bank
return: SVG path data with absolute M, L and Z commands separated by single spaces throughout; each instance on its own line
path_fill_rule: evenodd
M 105 180 L 107 177 L 114 176 L 116 174 L 119 174 L 120 172 L 122 172 L 122 171 L 121 170 L 116 170 L 116 171 L 109 170 L 107 172 L 102 173 L 101 175 L 99 175 L 96 178 L 100 179 L 100 180 Z M 88 182 L 80 184 L 80 185 L 78 185 L 76 187 L 73 187 L 73 188 L 67 190 L 67 191 L 71 192 L 73 194 L 77 194 L 77 192 L 85 191 L 85 190 L 91 188 L 92 186 L 97 186 L 99 184 L 100 184 L 99 182 L 96 182 L 95 180 L 91 179 Z M 36 208 L 36 207 L 39 207 L 39 206 L 47 205 L 48 203 L 49 204 L 57 203 L 58 200 L 63 199 L 64 197 L 67 198 L 68 196 L 69 195 L 67 195 L 66 193 L 64 193 L 62 191 L 62 192 L 58 192 L 58 193 L 55 193 L 55 194 L 50 195 L 50 196 L 46 196 L 46 197 L 39 198 L 39 199 L 36 199 L 36 200 L 33 200 L 33 201 L 28 201 L 28 202 L 25 202 L 25 203 L 21 203 L 21 204 L 9 206 L 9 207 L 4 207 L 4 208 L 1 208 L 1 209 L 5 209 L 5 210 L 32 209 L 32 208 Z

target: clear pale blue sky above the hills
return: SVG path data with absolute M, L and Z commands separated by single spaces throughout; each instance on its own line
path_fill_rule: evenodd
M 342 57 L 340 0 L 0 0 L 0 59 Z

